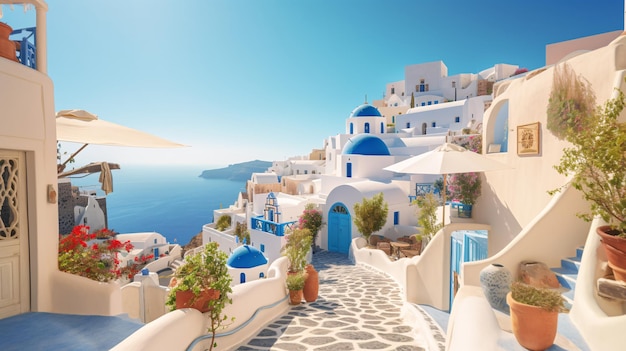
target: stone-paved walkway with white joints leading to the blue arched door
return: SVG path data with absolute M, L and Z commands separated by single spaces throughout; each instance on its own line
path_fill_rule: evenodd
M 425 341 L 400 317 L 400 288 L 387 275 L 355 266 L 347 255 L 313 255 L 317 301 L 292 306 L 238 350 L 423 351 Z

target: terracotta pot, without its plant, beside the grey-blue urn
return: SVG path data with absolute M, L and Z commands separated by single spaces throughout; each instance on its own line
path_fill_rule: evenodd
M 506 295 L 511 310 L 511 327 L 517 342 L 528 350 L 545 350 L 554 344 L 558 312 L 548 312 L 540 307 L 519 303 Z

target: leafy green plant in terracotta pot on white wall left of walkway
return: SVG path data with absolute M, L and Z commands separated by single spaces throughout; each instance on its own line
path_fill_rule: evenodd
M 216 242 L 206 244 L 201 252 L 185 256 L 185 264 L 174 273 L 166 301 L 171 310 L 191 307 L 209 317 L 210 349 L 216 345 L 215 333 L 228 319 L 222 311 L 233 302 L 228 296 L 232 293 L 232 278 L 227 259 Z

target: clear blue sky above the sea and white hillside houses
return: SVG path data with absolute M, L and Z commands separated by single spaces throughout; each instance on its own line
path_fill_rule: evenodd
M 448 74 L 496 63 L 529 70 L 547 44 L 624 27 L 621 0 L 49 0 L 55 110 L 190 147 L 90 145 L 76 165 L 282 160 L 345 131 L 405 66 Z M 34 11 L 3 7 L 14 28 Z M 65 144 L 72 152 L 75 144 Z

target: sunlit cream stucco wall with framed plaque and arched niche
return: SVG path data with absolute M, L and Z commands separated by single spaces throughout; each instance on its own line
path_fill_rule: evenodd
M 587 79 L 598 103 L 606 101 L 616 84 L 625 88 L 626 38 L 620 37 L 606 48 L 572 58 L 568 61 L 573 70 Z M 617 46 L 616 46 L 617 45 Z M 602 64 L 598 64 L 602 62 Z M 483 147 L 493 141 L 493 128 L 500 108 L 508 102 L 508 152 L 488 154 L 511 167 L 510 170 L 486 172 L 474 216 L 477 221 L 490 223 L 497 215 L 490 236 L 490 252 L 497 252 L 510 242 L 521 229 L 550 201 L 547 191 L 565 183 L 553 165 L 559 162 L 567 143 L 555 138 L 546 129 L 546 108 L 552 88 L 553 67 L 530 72 L 525 77 L 511 80 L 485 112 Z M 622 116 L 624 118 L 624 116 Z M 539 155 L 517 155 L 516 129 L 519 125 L 539 122 L 541 152 Z M 484 150 L 485 151 L 485 150 Z

